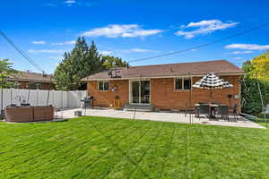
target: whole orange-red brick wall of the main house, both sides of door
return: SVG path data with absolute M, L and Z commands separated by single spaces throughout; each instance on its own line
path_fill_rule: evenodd
M 233 88 L 213 90 L 213 102 L 219 102 L 229 106 L 234 103 L 239 105 L 239 99 L 230 99 L 228 95 L 239 95 L 240 77 L 223 76 L 221 78 L 233 84 Z M 194 77 L 193 84 L 199 79 L 199 77 Z M 114 86 L 117 86 L 116 93 L 111 91 Z M 110 104 L 113 104 L 116 95 L 119 96 L 124 106 L 129 102 L 129 81 L 110 81 L 108 91 L 98 90 L 97 81 L 90 81 L 88 82 L 88 95 L 96 98 L 94 101 L 96 107 L 109 107 Z M 191 106 L 195 107 L 195 103 L 197 102 L 210 102 L 210 91 L 200 89 L 174 90 L 173 78 L 151 80 L 151 103 L 154 107 L 160 109 L 185 109 L 189 98 L 191 99 Z

